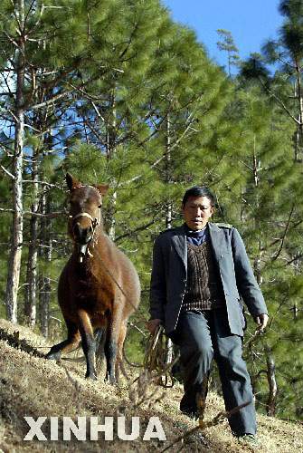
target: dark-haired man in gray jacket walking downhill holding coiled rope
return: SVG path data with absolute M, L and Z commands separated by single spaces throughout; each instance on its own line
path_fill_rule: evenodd
M 185 224 L 162 233 L 154 246 L 150 285 L 150 333 L 162 323 L 180 348 L 185 394 L 180 410 L 199 416 L 213 358 L 218 364 L 226 410 L 246 402 L 229 419 L 240 441 L 256 442 L 251 381 L 241 357 L 245 320 L 241 299 L 263 331 L 268 312 L 238 231 L 209 222 L 214 197 L 209 188 L 189 188 Z

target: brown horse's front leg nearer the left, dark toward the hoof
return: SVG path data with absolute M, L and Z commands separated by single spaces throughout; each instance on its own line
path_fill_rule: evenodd
M 79 330 L 82 340 L 82 348 L 86 358 L 86 378 L 97 380 L 96 372 L 96 342 L 90 323 L 90 316 L 84 310 L 79 310 Z

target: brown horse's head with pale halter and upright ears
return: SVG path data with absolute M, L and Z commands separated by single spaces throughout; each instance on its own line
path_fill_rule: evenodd
M 70 189 L 69 233 L 79 246 L 80 256 L 86 255 L 95 229 L 101 224 L 102 196 L 107 193 L 109 186 L 82 186 L 69 173 L 66 182 Z

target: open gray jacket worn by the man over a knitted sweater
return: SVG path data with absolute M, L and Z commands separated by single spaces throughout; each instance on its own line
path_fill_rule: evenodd
M 252 316 L 268 313 L 240 234 L 233 226 L 209 222 L 213 258 L 218 266 L 231 333 L 243 335 L 241 298 Z M 187 241 L 185 226 L 161 233 L 155 241 L 150 284 L 150 316 L 161 319 L 166 333 L 175 330 L 185 295 Z

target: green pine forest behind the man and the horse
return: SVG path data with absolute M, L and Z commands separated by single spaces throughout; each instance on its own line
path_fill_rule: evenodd
M 303 419 L 303 1 L 279 13 L 277 39 L 244 62 L 220 30 L 223 68 L 159 0 L 1 2 L 2 317 L 62 333 L 67 171 L 109 184 L 103 217 L 137 267 L 141 328 L 153 241 L 182 221 L 185 188 L 205 184 L 215 220 L 239 228 L 270 310 L 261 337 L 247 313 L 257 408 Z M 131 331 L 134 360 L 143 343 Z

